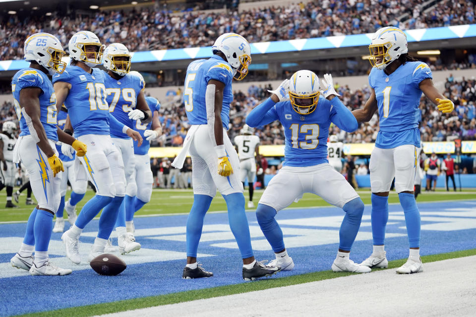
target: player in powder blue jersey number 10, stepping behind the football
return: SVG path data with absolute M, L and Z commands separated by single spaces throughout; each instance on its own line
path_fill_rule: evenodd
M 111 140 L 110 127 L 140 142 L 142 138 L 109 112 L 104 84 L 107 74 L 93 68 L 101 63 L 104 49 L 98 37 L 89 31 L 77 32 L 69 40 L 68 49 L 71 65 L 62 74 L 53 77 L 53 84 L 58 105 L 64 103 L 68 109 L 65 131 L 74 130 L 78 140 L 88 145 L 88 155 L 81 159 L 81 163 L 96 187 L 96 195 L 84 205 L 74 225 L 61 236 L 66 256 L 71 262 L 79 264 L 81 231 L 102 209 L 98 236 L 88 256 L 91 261 L 104 253 L 118 218 L 119 208 L 111 208 L 108 204 L 113 200 L 122 200 L 125 195 L 124 165 Z

